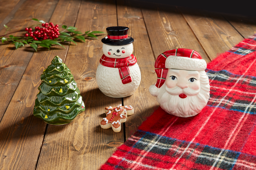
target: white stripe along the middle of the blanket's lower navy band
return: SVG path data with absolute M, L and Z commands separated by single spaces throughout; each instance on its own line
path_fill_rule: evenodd
M 141 143 L 141 144 L 145 144 L 145 145 L 152 145 L 151 140 L 145 139 L 145 138 L 140 140 L 140 137 L 131 136 L 128 140 L 135 141 L 136 143 Z M 172 145 L 172 147 L 170 148 L 168 144 L 163 144 L 163 143 L 157 143 L 157 146 L 154 145 L 153 147 L 172 150 L 172 151 L 175 151 L 175 152 L 178 152 L 178 153 L 182 153 L 182 152 L 185 151 L 184 147 L 180 147 L 178 145 Z M 223 156 L 223 155 L 220 156 L 220 158 L 221 158 L 220 159 L 220 158 L 217 157 L 218 156 L 217 154 L 212 154 L 212 153 L 207 153 L 207 152 L 200 152 L 200 151 L 197 151 L 197 150 L 192 149 L 192 148 L 188 148 L 185 152 L 189 153 L 189 154 L 192 154 L 193 156 L 199 157 L 199 158 L 204 158 L 204 159 L 208 159 L 208 160 L 215 160 L 215 161 L 217 160 L 219 162 L 225 162 L 227 164 L 237 164 L 239 166 L 244 166 L 244 167 L 251 168 L 251 169 L 256 168 L 256 164 L 254 164 L 252 162 L 247 162 L 245 160 L 239 160 L 239 159 L 237 160 L 237 159 L 234 159 L 234 158 L 228 158 L 228 157 Z M 125 159 L 125 160 L 128 160 L 128 159 Z

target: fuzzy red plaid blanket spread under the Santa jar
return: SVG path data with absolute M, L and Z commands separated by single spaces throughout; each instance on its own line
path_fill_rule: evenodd
M 181 118 L 158 108 L 101 169 L 256 169 L 255 69 L 253 35 L 208 63 L 201 113 Z

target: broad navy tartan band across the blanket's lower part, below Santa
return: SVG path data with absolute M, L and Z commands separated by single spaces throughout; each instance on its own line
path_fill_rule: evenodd
M 152 141 L 158 141 L 157 143 L 154 143 Z M 255 169 L 256 168 L 256 156 L 242 153 L 242 152 L 236 152 L 232 150 L 226 150 L 221 148 L 212 147 L 209 145 L 199 144 L 192 142 L 190 144 L 190 141 L 180 140 L 176 138 L 171 137 L 165 137 L 161 136 L 155 133 L 150 133 L 143 130 L 138 130 L 132 137 L 130 137 L 126 141 L 126 145 L 140 149 L 142 151 L 148 151 L 148 148 L 150 148 L 150 152 L 164 155 L 164 156 L 170 156 L 179 158 L 182 152 L 185 152 L 185 154 L 182 155 L 181 158 L 187 159 L 190 161 L 193 161 L 197 164 L 207 165 L 207 166 L 215 166 L 220 169 L 226 169 L 231 170 L 235 165 L 237 166 L 244 166 L 248 169 Z M 185 150 L 185 148 L 189 145 L 188 149 Z M 221 155 L 219 155 L 221 153 Z M 143 156 L 138 153 L 133 153 L 132 150 L 128 152 L 129 154 L 135 154 L 138 156 Z M 247 157 L 251 157 L 255 160 L 255 162 L 248 162 Z M 147 159 L 154 159 L 154 161 L 166 161 L 165 163 L 173 163 L 169 162 L 169 160 L 162 160 L 162 159 L 156 159 L 148 157 Z M 122 161 L 129 160 L 129 158 L 124 157 Z M 216 163 L 217 161 L 217 163 Z M 215 162 L 215 164 L 214 164 Z M 250 166 L 248 166 L 248 164 Z M 120 165 L 120 163 L 119 163 Z M 120 166 L 116 166 L 116 168 L 120 168 Z

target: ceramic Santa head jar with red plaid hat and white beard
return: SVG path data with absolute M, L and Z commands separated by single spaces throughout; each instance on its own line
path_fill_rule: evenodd
M 165 51 L 156 58 L 157 82 L 149 87 L 159 105 L 179 117 L 197 115 L 210 98 L 206 62 L 192 49 Z

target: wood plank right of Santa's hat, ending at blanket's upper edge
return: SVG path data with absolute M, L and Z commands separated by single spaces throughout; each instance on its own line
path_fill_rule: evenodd
M 220 14 L 181 7 L 179 9 L 211 60 L 243 40 Z

